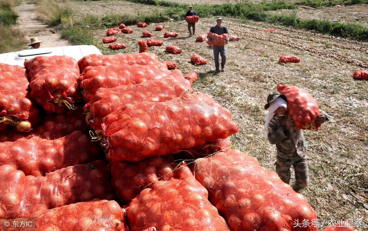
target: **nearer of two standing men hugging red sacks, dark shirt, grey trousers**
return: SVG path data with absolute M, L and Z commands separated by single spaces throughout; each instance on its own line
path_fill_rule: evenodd
M 229 34 L 229 32 L 227 31 L 226 26 L 221 25 L 222 24 L 222 18 L 221 17 L 217 17 L 216 23 L 217 23 L 217 25 L 212 26 L 211 29 L 209 30 L 209 32 L 216 33 L 217 35 Z M 207 38 L 210 41 L 213 39 L 212 37 L 208 37 L 208 35 L 207 35 Z M 226 39 L 225 42 L 229 42 L 229 39 Z M 226 63 L 226 48 L 225 48 L 225 45 L 223 45 L 223 46 L 213 46 L 213 56 L 215 57 L 216 71 L 220 71 L 219 53 L 221 55 L 221 69 L 222 69 L 222 71 L 224 71 L 225 70 L 225 63 Z

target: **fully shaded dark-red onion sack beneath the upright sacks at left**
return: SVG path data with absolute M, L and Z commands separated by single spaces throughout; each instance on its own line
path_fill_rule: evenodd
M 18 132 L 12 127 L 1 130 L 0 142 L 16 141 L 32 136 L 38 136 L 42 139 L 58 139 L 74 131 L 86 132 L 88 128 L 89 125 L 85 121 L 82 107 L 79 106 L 76 110 L 68 110 L 64 114 L 46 115 L 39 124 L 33 126 L 30 132 Z

